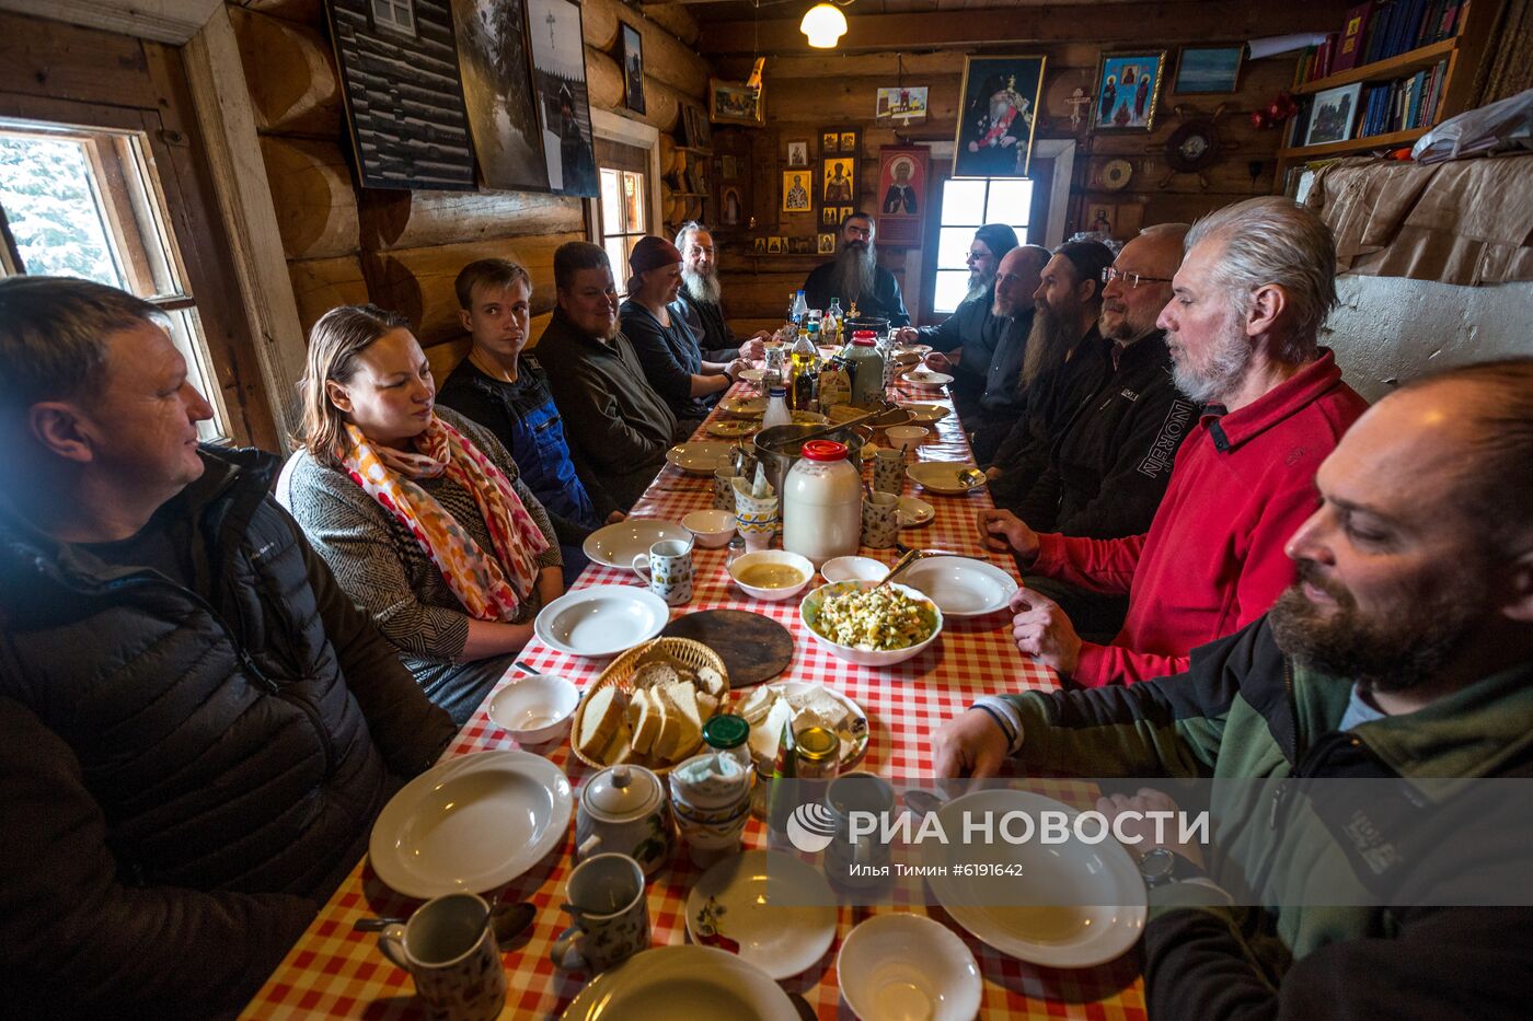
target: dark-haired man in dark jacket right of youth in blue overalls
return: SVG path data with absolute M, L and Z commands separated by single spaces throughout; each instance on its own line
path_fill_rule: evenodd
M 618 328 L 618 288 L 607 253 L 570 241 L 553 253 L 558 307 L 538 339 L 570 449 L 627 510 L 687 438 Z

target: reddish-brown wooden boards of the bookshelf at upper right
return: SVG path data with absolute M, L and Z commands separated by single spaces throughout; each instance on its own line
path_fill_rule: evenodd
M 1348 141 L 1325 143 L 1318 146 L 1289 146 L 1277 150 L 1277 182 L 1283 185 L 1289 167 L 1317 159 L 1335 159 L 1372 152 L 1375 149 L 1400 149 L 1413 144 L 1433 126 L 1449 117 L 1455 117 L 1469 109 L 1473 92 L 1475 69 L 1485 54 L 1490 35 L 1490 23 L 1495 20 L 1495 8 L 1490 0 L 1472 0 L 1459 15 L 1456 34 L 1407 51 L 1384 60 L 1349 67 L 1325 78 L 1306 81 L 1294 89 L 1295 97 L 1315 95 L 1326 89 L 1348 86 L 1354 83 L 1387 83 L 1407 78 L 1420 71 L 1429 71 L 1446 61 L 1441 97 L 1430 123 L 1381 135 L 1351 138 Z M 1308 120 L 1308 115 L 1306 115 Z M 1300 130 L 1303 130 L 1300 127 Z

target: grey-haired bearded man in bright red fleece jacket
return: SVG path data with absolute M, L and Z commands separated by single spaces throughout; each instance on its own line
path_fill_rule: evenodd
M 1283 541 L 1315 509 L 1315 468 L 1367 406 L 1317 343 L 1334 304 L 1335 242 L 1311 210 L 1266 196 L 1194 224 L 1157 325 L 1176 385 L 1205 408 L 1150 530 L 1090 540 L 980 515 L 990 547 L 1029 573 L 1128 595 L 1122 630 L 1098 645 L 1023 589 L 1023 653 L 1084 687 L 1180 673 L 1190 648 L 1257 619 L 1292 584 Z

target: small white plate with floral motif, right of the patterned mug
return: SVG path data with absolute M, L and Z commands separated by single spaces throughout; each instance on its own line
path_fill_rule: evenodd
M 687 894 L 687 934 L 693 943 L 714 932 L 739 943 L 740 957 L 771 978 L 793 978 L 831 949 L 835 894 L 820 869 L 793 855 L 747 851 L 704 872 Z

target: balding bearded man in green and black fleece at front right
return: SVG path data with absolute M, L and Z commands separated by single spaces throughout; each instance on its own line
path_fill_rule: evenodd
M 1452 906 L 1487 903 L 1453 898 L 1470 880 L 1528 903 L 1525 848 L 1508 858 L 1401 831 L 1386 845 L 1400 854 L 1367 858 L 1308 793 L 1331 777 L 1420 791 L 1424 777 L 1533 776 L 1528 480 L 1533 359 L 1407 385 L 1320 466 L 1321 506 L 1286 546 L 1298 583 L 1266 618 L 1194 650 L 1179 676 L 980 699 L 938 733 L 938 774 L 990 776 L 1015 756 L 1237 782 L 1223 786 L 1243 805 L 1214 788 L 1206 862 L 1171 843 L 1141 858 L 1171 880 L 1150 891 L 1151 1016 L 1527 1016 L 1533 909 Z M 1269 794 L 1259 816 L 1252 791 Z M 1153 791 L 1099 803 L 1167 806 Z M 1314 897 L 1306 863 L 1334 898 Z M 1383 878 L 1392 901 L 1371 900 Z

